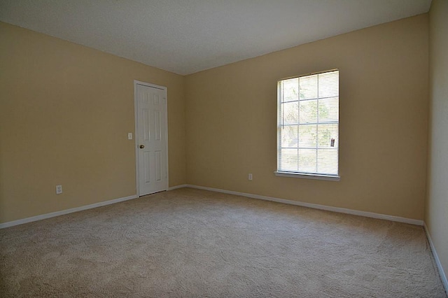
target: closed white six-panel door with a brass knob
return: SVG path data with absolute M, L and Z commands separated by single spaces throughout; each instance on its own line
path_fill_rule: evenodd
M 167 91 L 137 83 L 139 195 L 168 189 Z

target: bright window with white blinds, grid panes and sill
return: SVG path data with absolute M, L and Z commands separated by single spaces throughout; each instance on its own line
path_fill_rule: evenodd
M 339 71 L 280 80 L 277 176 L 339 180 Z

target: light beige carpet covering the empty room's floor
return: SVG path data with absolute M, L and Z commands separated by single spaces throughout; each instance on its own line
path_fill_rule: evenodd
M 446 297 L 422 227 L 188 188 L 0 245 L 1 297 Z

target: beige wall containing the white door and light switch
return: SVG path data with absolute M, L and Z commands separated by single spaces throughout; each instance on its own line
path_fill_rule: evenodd
M 0 222 L 136 194 L 134 80 L 167 87 L 169 185 L 186 183 L 183 76 L 6 23 L 0 36 Z

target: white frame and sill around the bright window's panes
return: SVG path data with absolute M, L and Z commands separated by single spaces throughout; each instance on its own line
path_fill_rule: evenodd
M 317 73 L 307 73 L 304 74 L 302 76 L 295 76 L 295 77 L 291 77 L 291 78 L 302 78 L 302 77 L 306 77 L 306 76 L 313 76 L 316 74 L 321 74 L 321 73 L 329 73 L 332 71 L 339 71 L 338 69 L 332 69 L 329 71 L 319 71 Z M 339 74 L 339 73 L 338 73 Z M 337 163 L 338 163 L 338 169 L 337 169 L 337 175 L 327 175 L 327 174 L 323 174 L 323 173 L 304 173 L 304 172 L 300 172 L 300 171 L 281 171 L 279 170 L 279 159 L 281 158 L 281 151 L 280 151 L 280 143 L 281 143 L 281 134 L 280 134 L 280 129 L 281 127 L 283 127 L 284 125 L 281 123 L 281 119 L 280 119 L 280 115 L 279 115 L 279 111 L 281 108 L 281 92 L 280 92 L 280 86 L 281 86 L 281 82 L 283 80 L 288 80 L 291 78 L 284 78 L 281 79 L 277 82 L 277 133 L 276 133 L 276 139 L 277 139 L 277 152 L 276 152 L 276 158 L 277 158 L 277 171 L 274 171 L 275 176 L 280 176 L 280 177 L 293 177 L 293 178 L 307 178 L 307 179 L 316 179 L 316 180 L 330 180 L 330 181 L 339 181 L 340 180 L 340 176 L 339 176 L 339 145 L 337 146 Z M 339 92 L 338 92 L 338 98 L 339 98 Z M 339 101 L 339 99 L 338 99 Z M 297 124 L 297 126 L 300 126 L 300 124 Z M 338 139 L 339 139 L 339 118 L 337 120 L 337 134 L 338 134 Z M 339 141 L 339 140 L 338 140 Z M 339 142 L 338 142 L 339 143 Z M 298 147 L 297 147 L 298 148 Z

